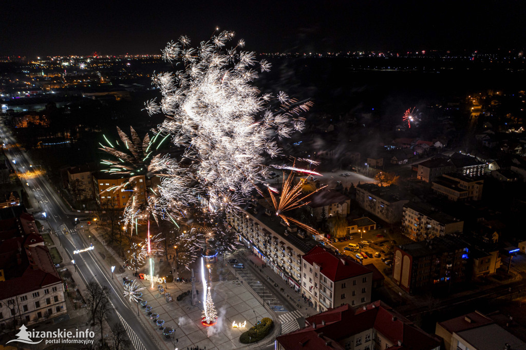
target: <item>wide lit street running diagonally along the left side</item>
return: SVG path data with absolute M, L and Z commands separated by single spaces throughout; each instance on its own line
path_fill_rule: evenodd
M 16 141 L 8 135 L 7 128 L 3 122 L 0 124 L 0 138 L 2 142 L 7 145 L 8 151 L 6 156 L 9 161 L 15 160 L 18 169 L 22 169 L 23 173 L 27 172 L 27 169 L 31 169 L 30 164 L 33 164 L 31 160 L 25 155 L 25 153 L 19 149 L 16 145 Z M 22 174 L 22 180 L 26 180 L 29 188 L 28 192 L 32 192 L 41 208 L 34 210 L 35 217 L 38 219 L 44 219 L 44 212 L 46 213 L 45 218 L 49 227 L 57 234 L 60 243 L 64 246 L 68 258 L 64 257 L 66 265 L 72 260 L 75 260 L 75 266 L 69 263 L 69 267 L 73 267 L 82 277 L 84 284 L 88 284 L 90 280 L 97 281 L 102 286 L 107 286 L 111 293 L 109 294 L 110 301 L 112 302 L 115 310 L 109 315 L 109 324 L 115 322 L 122 322 L 128 336 L 133 342 L 136 350 L 156 349 L 159 348 L 149 335 L 144 330 L 143 326 L 137 320 L 135 311 L 131 311 L 125 303 L 122 292 L 117 290 L 116 287 L 110 283 L 109 277 L 102 271 L 100 266 L 97 264 L 93 254 L 98 254 L 95 251 L 87 251 L 79 254 L 73 254 L 75 250 L 87 248 L 89 243 L 83 241 L 82 236 L 78 234 L 77 229 L 74 227 L 75 214 L 64 208 L 64 204 L 58 199 L 56 193 L 54 193 L 49 186 L 46 179 L 43 178 L 38 172 L 34 176 L 24 178 Z M 24 183 L 24 181 L 22 181 Z M 28 193 L 29 194 L 29 193 Z M 39 212 L 39 210 L 42 210 Z M 79 284 L 82 285 L 82 284 Z M 98 339 L 96 339 L 98 340 Z

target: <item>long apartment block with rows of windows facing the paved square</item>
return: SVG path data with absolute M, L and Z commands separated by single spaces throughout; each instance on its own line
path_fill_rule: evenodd
M 317 243 L 296 225 L 287 226 L 268 209 L 256 205 L 227 218 L 239 240 L 296 291 L 301 289 L 301 256 Z

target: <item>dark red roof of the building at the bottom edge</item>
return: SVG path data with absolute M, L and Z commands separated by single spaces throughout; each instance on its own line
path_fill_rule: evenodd
M 345 304 L 307 317 L 305 321 L 308 326 L 281 335 L 276 340 L 287 350 L 299 348 L 318 350 L 327 346 L 328 342 L 319 344 L 319 342 L 312 341 L 315 337 L 330 339 L 329 345 L 333 345 L 374 328 L 377 333 L 381 333 L 393 344 L 389 349 L 427 350 L 440 345 L 436 338 L 422 331 L 407 318 L 380 301 L 356 310 L 349 304 Z M 303 343 L 301 339 L 307 341 Z

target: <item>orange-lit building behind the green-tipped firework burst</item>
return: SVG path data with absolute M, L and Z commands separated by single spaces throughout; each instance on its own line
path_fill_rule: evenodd
M 136 201 L 146 201 L 146 178 L 144 175 L 135 178 L 135 183 L 116 190 L 116 187 L 128 182 L 128 179 L 104 171 L 94 173 L 93 188 L 97 203 L 104 208 L 122 209 L 126 207 L 132 195 L 136 195 Z

